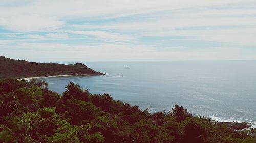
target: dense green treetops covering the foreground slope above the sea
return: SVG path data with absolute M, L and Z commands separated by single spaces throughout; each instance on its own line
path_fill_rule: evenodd
M 0 81 L 0 142 L 256 142 L 255 131 L 234 131 L 182 106 L 141 111 L 90 94 L 70 82 L 63 95 L 44 81 Z

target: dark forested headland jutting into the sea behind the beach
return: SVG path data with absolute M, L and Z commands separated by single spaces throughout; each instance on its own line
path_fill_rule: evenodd
M 3 77 L 33 77 L 67 74 L 103 75 L 82 63 L 64 65 L 56 63 L 36 63 L 25 60 L 13 60 L 0 56 L 0 78 Z

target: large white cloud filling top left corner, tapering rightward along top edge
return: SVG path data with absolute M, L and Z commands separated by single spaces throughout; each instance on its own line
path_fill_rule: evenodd
M 216 1 L 27 1 L 20 4 L 19 1 L 1 1 L 0 26 L 17 31 L 41 31 L 60 28 L 65 20 L 80 18 L 104 19 L 113 17 L 145 14 L 156 11 L 176 10 L 193 7 L 214 7 L 236 2 L 251 2 L 241 0 L 216 0 Z M 253 3 L 253 1 L 252 1 Z M 103 6 L 103 7 L 101 7 Z M 100 8 L 99 8 L 100 7 Z M 33 14 L 32 14 L 33 13 Z

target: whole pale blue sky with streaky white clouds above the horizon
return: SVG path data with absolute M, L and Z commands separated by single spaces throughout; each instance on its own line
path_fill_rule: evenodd
M 0 55 L 28 61 L 255 60 L 253 0 L 1 0 Z

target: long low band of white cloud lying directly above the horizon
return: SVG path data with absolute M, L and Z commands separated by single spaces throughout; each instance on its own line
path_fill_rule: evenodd
M 127 44 L 20 43 L 3 45 L 0 52 L 3 56 L 29 61 L 250 60 L 256 56 L 256 52 L 244 52 L 242 48 L 216 47 L 190 52 L 184 48 L 164 47 L 164 50 L 159 50 L 155 46 Z

